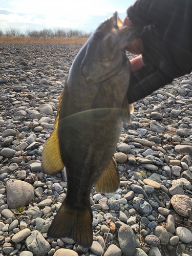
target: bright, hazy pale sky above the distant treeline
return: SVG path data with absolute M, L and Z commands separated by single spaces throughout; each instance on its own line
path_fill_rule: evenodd
M 123 20 L 135 0 L 0 0 L 0 29 L 73 28 L 94 31 L 118 11 Z

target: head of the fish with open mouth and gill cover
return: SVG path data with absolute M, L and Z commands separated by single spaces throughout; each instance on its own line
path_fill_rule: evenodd
M 123 69 L 126 62 L 124 49 L 136 36 L 134 27 L 122 26 L 117 12 L 104 20 L 87 41 L 81 63 L 86 80 L 98 83 Z

